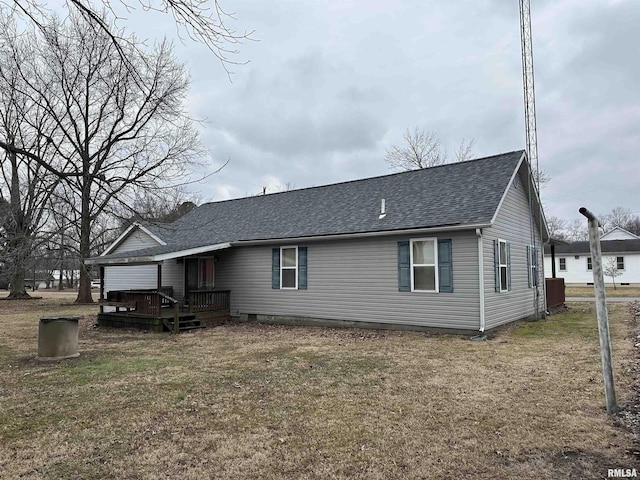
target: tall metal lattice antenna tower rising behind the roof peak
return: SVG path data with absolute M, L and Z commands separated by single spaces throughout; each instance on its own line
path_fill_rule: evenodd
M 540 191 L 538 169 L 538 132 L 536 131 L 536 92 L 533 82 L 533 37 L 531 36 L 531 6 L 520 0 L 520 40 L 522 42 L 522 84 L 524 87 L 524 123 L 527 135 L 527 155 Z

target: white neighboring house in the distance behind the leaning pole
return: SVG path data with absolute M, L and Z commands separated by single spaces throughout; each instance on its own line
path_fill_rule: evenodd
M 640 285 L 640 237 L 616 227 L 600 237 L 600 247 L 605 269 L 610 259 L 616 263 L 618 268 L 616 284 Z M 555 263 L 556 277 L 564 278 L 566 284 L 593 284 L 589 242 L 556 245 Z M 549 247 L 545 248 L 544 268 L 547 274 L 552 271 Z M 604 281 L 610 284 L 612 279 L 605 273 Z

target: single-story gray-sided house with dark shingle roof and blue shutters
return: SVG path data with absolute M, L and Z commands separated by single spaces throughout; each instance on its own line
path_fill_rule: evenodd
M 105 324 L 163 303 L 214 309 L 222 292 L 241 319 L 483 332 L 544 314 L 547 239 L 516 151 L 207 203 L 166 227 L 133 225 L 87 263 L 100 267 Z

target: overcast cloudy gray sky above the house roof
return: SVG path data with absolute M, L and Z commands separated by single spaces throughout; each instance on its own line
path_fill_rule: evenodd
M 211 168 L 230 159 L 197 186 L 203 200 L 391 173 L 406 127 L 451 154 L 462 139 L 474 157 L 525 148 L 518 0 L 220 1 L 255 30 L 233 82 L 205 47 L 176 44 Z M 531 4 L 547 216 L 640 214 L 640 2 Z M 145 24 L 123 26 L 175 30 Z

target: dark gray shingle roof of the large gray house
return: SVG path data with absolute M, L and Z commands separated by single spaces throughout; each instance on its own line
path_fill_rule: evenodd
M 489 224 L 523 153 L 206 203 L 166 227 L 148 226 L 167 245 L 135 254 L 243 240 Z M 387 215 L 379 219 L 383 198 Z

